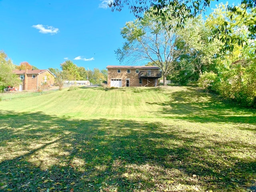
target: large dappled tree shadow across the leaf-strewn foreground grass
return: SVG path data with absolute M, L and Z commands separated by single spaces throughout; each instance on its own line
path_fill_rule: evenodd
M 161 122 L 0 111 L 0 189 L 226 191 L 252 186 L 255 159 L 232 156 L 232 144 L 208 137 Z M 255 153 L 253 146 L 239 150 L 248 149 Z

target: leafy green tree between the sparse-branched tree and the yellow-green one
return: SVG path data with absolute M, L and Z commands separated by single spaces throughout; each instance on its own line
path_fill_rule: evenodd
M 183 62 L 188 70 L 201 75 L 205 70 L 211 68 L 213 60 L 220 52 L 221 43 L 217 40 L 209 42 L 211 30 L 202 16 L 188 20 L 180 36 L 178 49 L 189 49 L 185 55 L 178 58 L 178 62 Z M 212 69 L 212 68 L 211 68 Z

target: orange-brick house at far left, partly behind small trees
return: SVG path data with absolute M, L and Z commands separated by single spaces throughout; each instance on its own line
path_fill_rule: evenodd
M 22 80 L 19 91 L 38 91 L 48 89 L 54 84 L 54 74 L 48 69 L 14 70 L 18 78 Z

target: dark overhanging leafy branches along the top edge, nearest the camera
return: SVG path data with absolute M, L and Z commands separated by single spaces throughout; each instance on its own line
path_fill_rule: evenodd
M 178 19 L 178 26 L 182 28 L 188 18 L 194 18 L 198 13 L 205 12 L 206 8 L 210 6 L 210 2 L 211 0 L 113 0 L 110 1 L 109 6 L 112 8 L 112 11 L 121 11 L 122 8 L 128 6 L 137 18 L 140 18 L 144 12 L 153 8 L 156 10 L 156 15 L 161 15 L 166 20 L 168 20 L 169 16 Z M 169 15 L 165 14 L 166 7 L 171 7 L 172 11 Z M 228 10 L 231 13 L 231 18 L 234 14 L 244 17 L 247 12 L 255 12 L 255 7 L 255 0 L 241 0 L 240 6 L 228 6 Z M 245 22 L 252 38 L 256 37 L 255 20 L 256 15 L 254 14 L 252 20 Z M 214 38 L 221 40 L 226 45 L 226 50 L 232 50 L 234 47 L 229 46 L 230 42 L 238 45 L 244 43 L 242 38 L 232 36 L 232 31 L 229 28 L 228 22 L 222 22 L 220 23 L 220 28 L 214 31 Z

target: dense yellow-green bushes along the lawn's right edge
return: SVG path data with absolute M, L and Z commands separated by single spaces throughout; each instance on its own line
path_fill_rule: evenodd
M 256 58 L 250 49 L 236 46 L 232 54 L 218 59 L 217 74 L 205 72 L 200 76 L 200 86 L 243 106 L 256 107 L 255 68 Z

